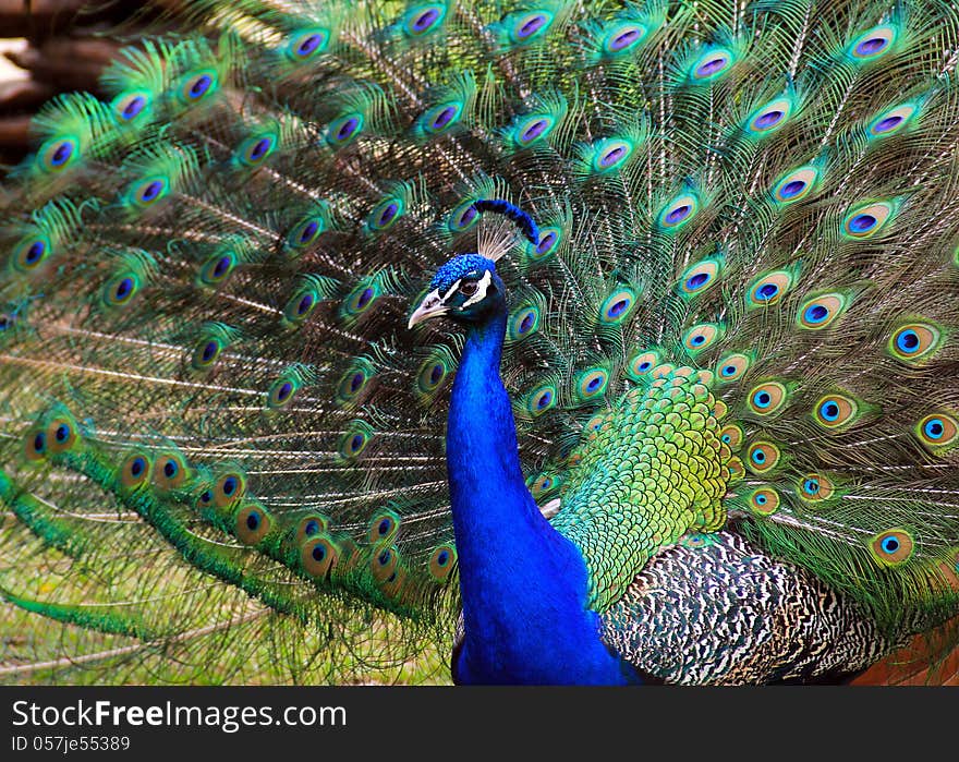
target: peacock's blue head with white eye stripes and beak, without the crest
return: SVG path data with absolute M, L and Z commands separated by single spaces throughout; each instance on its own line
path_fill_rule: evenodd
M 433 290 L 410 316 L 410 328 L 440 315 L 458 323 L 478 324 L 506 307 L 496 264 L 481 254 L 454 256 L 436 271 L 429 287 Z

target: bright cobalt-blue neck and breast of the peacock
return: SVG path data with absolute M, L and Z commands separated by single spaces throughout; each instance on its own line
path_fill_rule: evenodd
M 457 678 L 634 680 L 599 640 L 599 618 L 586 608 L 582 556 L 543 518 L 523 480 L 499 377 L 506 319 L 503 305 L 471 327 L 450 400 L 447 470 L 465 621 Z

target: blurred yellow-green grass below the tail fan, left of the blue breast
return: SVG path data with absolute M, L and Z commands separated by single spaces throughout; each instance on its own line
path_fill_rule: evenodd
M 23 610 L 0 594 L 0 684 L 451 681 L 451 625 L 404 622 L 278 577 L 309 604 L 304 624 L 193 569 L 142 522 L 120 531 L 123 542 L 72 558 L 44 546 L 11 515 L 0 517 L 0 593 L 116 615 L 156 633 L 98 632 Z

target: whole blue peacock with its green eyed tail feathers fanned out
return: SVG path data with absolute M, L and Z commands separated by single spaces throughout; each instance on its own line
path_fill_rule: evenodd
M 954 3 L 161 10 L 0 195 L 2 680 L 955 648 Z

